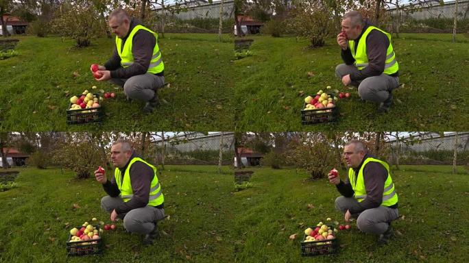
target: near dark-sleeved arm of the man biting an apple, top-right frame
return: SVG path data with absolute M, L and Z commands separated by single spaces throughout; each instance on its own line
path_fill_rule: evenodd
M 350 79 L 358 81 L 367 77 L 381 75 L 384 71 L 386 62 L 387 48 L 389 47 L 389 38 L 376 29 L 372 30 L 366 38 L 366 53 L 368 55 L 368 66 L 357 73 L 351 73 Z

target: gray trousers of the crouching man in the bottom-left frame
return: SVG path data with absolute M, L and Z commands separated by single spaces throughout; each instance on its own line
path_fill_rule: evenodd
M 101 199 L 101 208 L 111 213 L 121 203 L 123 203 L 123 200 L 120 197 L 110 197 L 107 195 Z M 147 205 L 145 208 L 136 208 L 123 215 L 119 214 L 119 218 L 123 218 L 125 230 L 131 233 L 148 234 L 153 231 L 157 221 L 165 218 L 165 210 Z

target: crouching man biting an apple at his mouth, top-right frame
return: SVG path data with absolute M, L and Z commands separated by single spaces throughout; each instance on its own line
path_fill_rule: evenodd
M 335 68 L 344 86 L 358 86 L 361 99 L 380 103 L 379 113 L 392 105 L 392 90 L 399 86 L 399 66 L 391 44 L 391 35 L 363 21 L 358 11 L 342 18 L 337 35 L 345 64 Z

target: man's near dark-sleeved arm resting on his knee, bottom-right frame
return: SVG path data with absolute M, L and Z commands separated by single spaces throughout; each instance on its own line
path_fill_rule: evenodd
M 366 198 L 359 203 L 359 209 L 350 210 L 350 213 L 357 214 L 363 210 L 380 206 L 383 202 L 383 191 L 386 179 L 387 170 L 382 164 L 378 162 L 368 162 L 365 168 L 363 168 Z

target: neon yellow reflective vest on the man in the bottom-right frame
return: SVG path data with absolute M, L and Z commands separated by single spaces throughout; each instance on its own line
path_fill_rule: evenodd
M 398 202 L 398 196 L 394 189 L 394 183 L 391 178 L 391 173 L 389 172 L 389 165 L 386 162 L 383 162 L 375 158 L 366 158 L 366 160 L 361 165 L 361 168 L 357 177 L 355 176 L 355 172 L 353 171 L 352 168 L 348 169 L 348 179 L 350 181 L 350 184 L 352 184 L 352 189 L 355 192 L 354 198 L 357 199 L 357 201 L 361 202 L 367 197 L 366 189 L 365 189 L 365 181 L 363 179 L 363 168 L 365 167 L 366 164 L 368 164 L 368 162 L 378 162 L 382 164 L 387 171 L 387 179 L 384 184 L 383 201 L 381 202 L 381 205 L 391 206 L 391 205 L 396 204 Z

